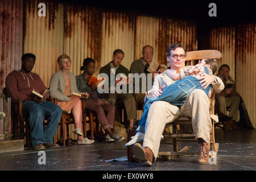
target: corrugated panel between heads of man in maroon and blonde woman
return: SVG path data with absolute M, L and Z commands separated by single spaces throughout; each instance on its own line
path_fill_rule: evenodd
M 46 4 L 46 17 L 38 16 L 39 3 Z M 63 6 L 58 1 L 24 1 L 23 53 L 34 53 L 36 63 L 32 72 L 37 73 L 46 86 L 59 67 L 57 57 L 63 53 Z

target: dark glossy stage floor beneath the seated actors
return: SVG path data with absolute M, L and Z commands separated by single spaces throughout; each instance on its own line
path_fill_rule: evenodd
M 172 151 L 164 138 L 160 151 Z M 158 159 L 152 167 L 139 163 L 107 162 L 106 160 L 126 156 L 125 141 L 121 143 L 96 142 L 86 146 L 61 146 L 46 151 L 46 164 L 38 164 L 38 151 L 6 152 L 0 154 L 0 170 L 93 170 L 93 171 L 255 171 L 256 169 L 256 129 L 222 131 L 216 129 L 216 141 L 220 143 L 217 164 L 196 164 L 197 156 L 185 156 L 170 161 Z M 179 150 L 189 146 L 189 151 L 197 151 L 196 142 L 182 142 Z M 42 161 L 42 160 L 41 160 Z

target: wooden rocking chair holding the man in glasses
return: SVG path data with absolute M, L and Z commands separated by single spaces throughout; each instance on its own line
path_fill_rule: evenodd
M 203 50 L 203 51 L 191 51 L 187 52 L 186 61 L 188 61 L 187 65 L 195 65 L 195 60 L 201 60 L 204 58 L 210 59 L 219 59 L 221 58 L 221 52 L 216 50 Z M 216 115 L 214 116 L 214 100 L 215 94 L 213 93 L 210 97 L 210 118 L 212 121 L 212 131 L 210 131 L 210 143 L 209 143 L 209 151 L 210 148 L 212 151 L 218 152 L 218 143 L 215 142 L 214 137 L 214 119 L 218 122 L 218 118 Z M 182 133 L 183 127 L 185 125 L 192 125 L 191 118 L 187 117 L 179 117 L 174 122 L 168 123 L 166 128 L 170 129 L 172 126 L 172 131 L 170 131 L 170 136 L 172 138 L 174 151 L 172 152 L 159 152 L 158 158 L 162 159 L 175 159 L 180 156 L 193 156 L 198 155 L 198 152 L 188 152 L 189 147 L 185 146 L 180 151 L 178 151 L 177 141 L 192 139 L 195 141 L 195 135 L 193 134 L 184 134 Z

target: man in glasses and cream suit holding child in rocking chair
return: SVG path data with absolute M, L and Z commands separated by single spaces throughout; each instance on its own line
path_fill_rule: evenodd
M 181 75 L 185 74 L 185 55 L 185 48 L 181 44 L 173 44 L 167 49 L 166 58 L 170 63 L 171 71 L 180 72 Z M 214 75 L 205 74 L 201 79 L 202 81 L 200 82 L 204 82 L 202 86 L 207 87 L 211 84 L 216 93 L 224 89 L 222 80 Z M 174 82 L 175 81 L 168 77 L 166 73 L 156 76 L 152 89 L 146 93 L 146 97 L 160 96 L 160 94 L 162 94 L 162 88 Z M 143 146 L 139 143 L 135 143 L 133 146 L 133 154 L 143 164 L 151 166 L 158 156 L 164 126 L 166 123 L 170 123 L 177 117 L 180 117 L 180 115 L 183 115 L 192 118 L 193 133 L 199 143 L 198 163 L 208 163 L 208 143 L 210 141 L 210 131 L 212 130 L 209 107 L 209 98 L 207 94 L 200 89 L 193 90 L 187 97 L 184 105 L 180 108 L 166 101 L 154 102 L 148 111 Z

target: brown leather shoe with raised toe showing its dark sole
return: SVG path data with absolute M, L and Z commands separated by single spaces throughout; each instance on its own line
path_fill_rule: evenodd
M 142 147 L 141 144 L 135 143 L 133 145 L 133 154 L 139 159 L 141 164 L 146 166 L 151 166 L 155 162 L 155 157 L 153 152 L 148 147 Z

